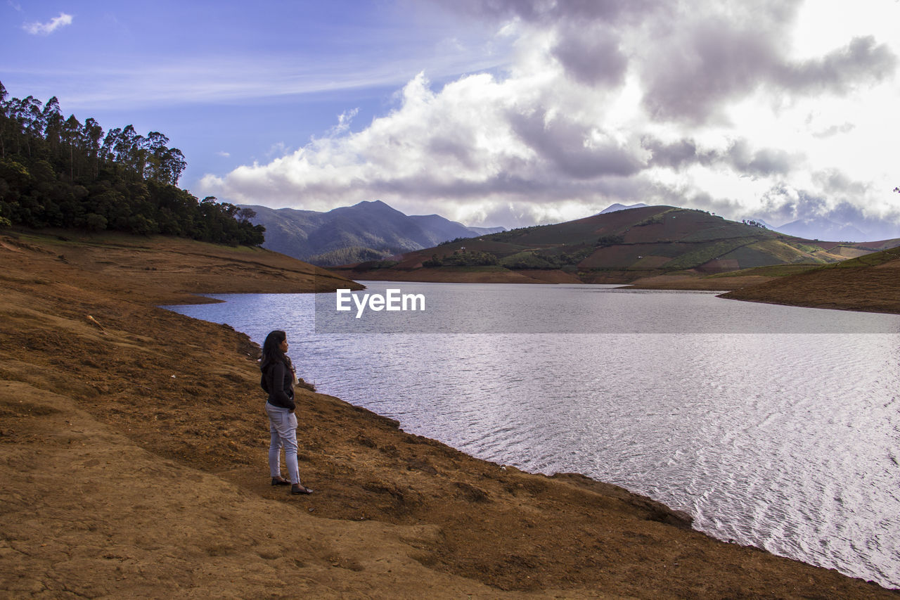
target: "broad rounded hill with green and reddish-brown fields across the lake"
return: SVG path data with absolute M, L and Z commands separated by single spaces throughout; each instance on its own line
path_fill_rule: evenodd
M 667 274 L 708 275 L 773 265 L 825 264 L 900 245 L 812 241 L 715 214 L 674 206 L 640 206 L 557 223 L 482 235 L 405 253 L 396 264 L 357 265 L 365 278 L 437 277 L 417 271 L 479 272 L 512 280 L 537 271 L 545 280 L 624 283 Z M 370 268 L 377 270 L 366 270 Z M 549 271 L 557 271 L 550 276 Z M 564 277 L 563 277 L 564 276 Z M 356 277 L 359 277 L 358 275 Z M 438 277 L 439 278 L 439 277 Z M 463 279 L 465 277 L 462 277 Z

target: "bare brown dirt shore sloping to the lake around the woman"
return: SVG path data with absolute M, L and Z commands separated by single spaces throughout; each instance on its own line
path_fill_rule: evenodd
M 713 540 L 616 486 L 473 459 L 309 390 L 301 473 L 316 493 L 288 495 L 269 486 L 257 346 L 156 305 L 346 281 L 186 241 L 0 242 L 6 596 L 898 597 Z

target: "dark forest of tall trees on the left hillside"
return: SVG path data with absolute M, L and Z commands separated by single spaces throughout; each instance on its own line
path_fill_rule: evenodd
M 255 214 L 177 186 L 187 161 L 160 132 L 103 132 L 65 118 L 54 96 L 9 97 L 0 83 L 0 225 L 161 233 L 258 246 Z

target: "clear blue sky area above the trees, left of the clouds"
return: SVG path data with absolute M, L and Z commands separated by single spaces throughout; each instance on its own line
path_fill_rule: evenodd
M 296 149 L 358 110 L 371 120 L 428 68 L 491 66 L 442 52 L 444 24 L 392 2 L 6 2 L 0 81 L 59 98 L 107 129 L 133 123 L 184 151 L 182 185 Z M 29 32 L 35 23 L 52 32 Z M 228 156 L 224 156 L 224 155 Z

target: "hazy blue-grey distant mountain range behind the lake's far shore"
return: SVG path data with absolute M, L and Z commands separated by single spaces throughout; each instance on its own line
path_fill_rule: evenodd
M 263 248 L 322 267 L 385 259 L 444 241 L 506 231 L 503 227 L 466 227 L 438 214 L 407 215 L 381 200 L 327 213 L 239 207 L 253 210 L 252 223 L 266 227 Z

